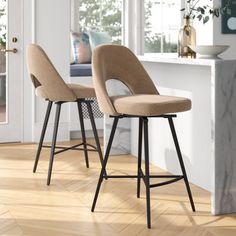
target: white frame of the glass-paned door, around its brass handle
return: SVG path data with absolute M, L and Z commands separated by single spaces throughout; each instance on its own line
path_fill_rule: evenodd
M 13 37 L 17 38 L 17 42 L 12 42 Z M 7 1 L 6 47 L 7 49 L 17 48 L 18 52 L 7 54 L 7 120 L 6 123 L 0 125 L 0 142 L 20 142 L 23 133 L 23 0 Z

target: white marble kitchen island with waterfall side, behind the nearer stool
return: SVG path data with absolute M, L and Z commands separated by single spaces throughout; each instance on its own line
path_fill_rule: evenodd
M 190 182 L 211 191 L 213 214 L 236 212 L 236 60 L 138 58 L 161 94 L 192 100 L 192 110 L 174 120 Z M 122 122 L 113 151 L 137 155 L 137 120 Z M 178 174 L 166 120 L 149 124 L 150 161 Z M 106 136 L 109 127 L 106 119 Z

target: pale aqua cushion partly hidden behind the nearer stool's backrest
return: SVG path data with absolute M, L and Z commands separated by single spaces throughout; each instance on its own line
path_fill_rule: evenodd
M 111 44 L 112 38 L 107 32 L 89 32 L 89 41 L 92 51 L 100 44 Z

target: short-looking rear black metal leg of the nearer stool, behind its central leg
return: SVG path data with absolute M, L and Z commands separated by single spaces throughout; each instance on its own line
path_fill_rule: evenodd
M 137 173 L 137 198 L 140 198 L 140 170 L 141 170 L 141 164 L 142 164 L 142 139 L 143 139 L 143 120 L 142 118 L 139 118 L 139 136 L 138 136 L 138 173 Z

